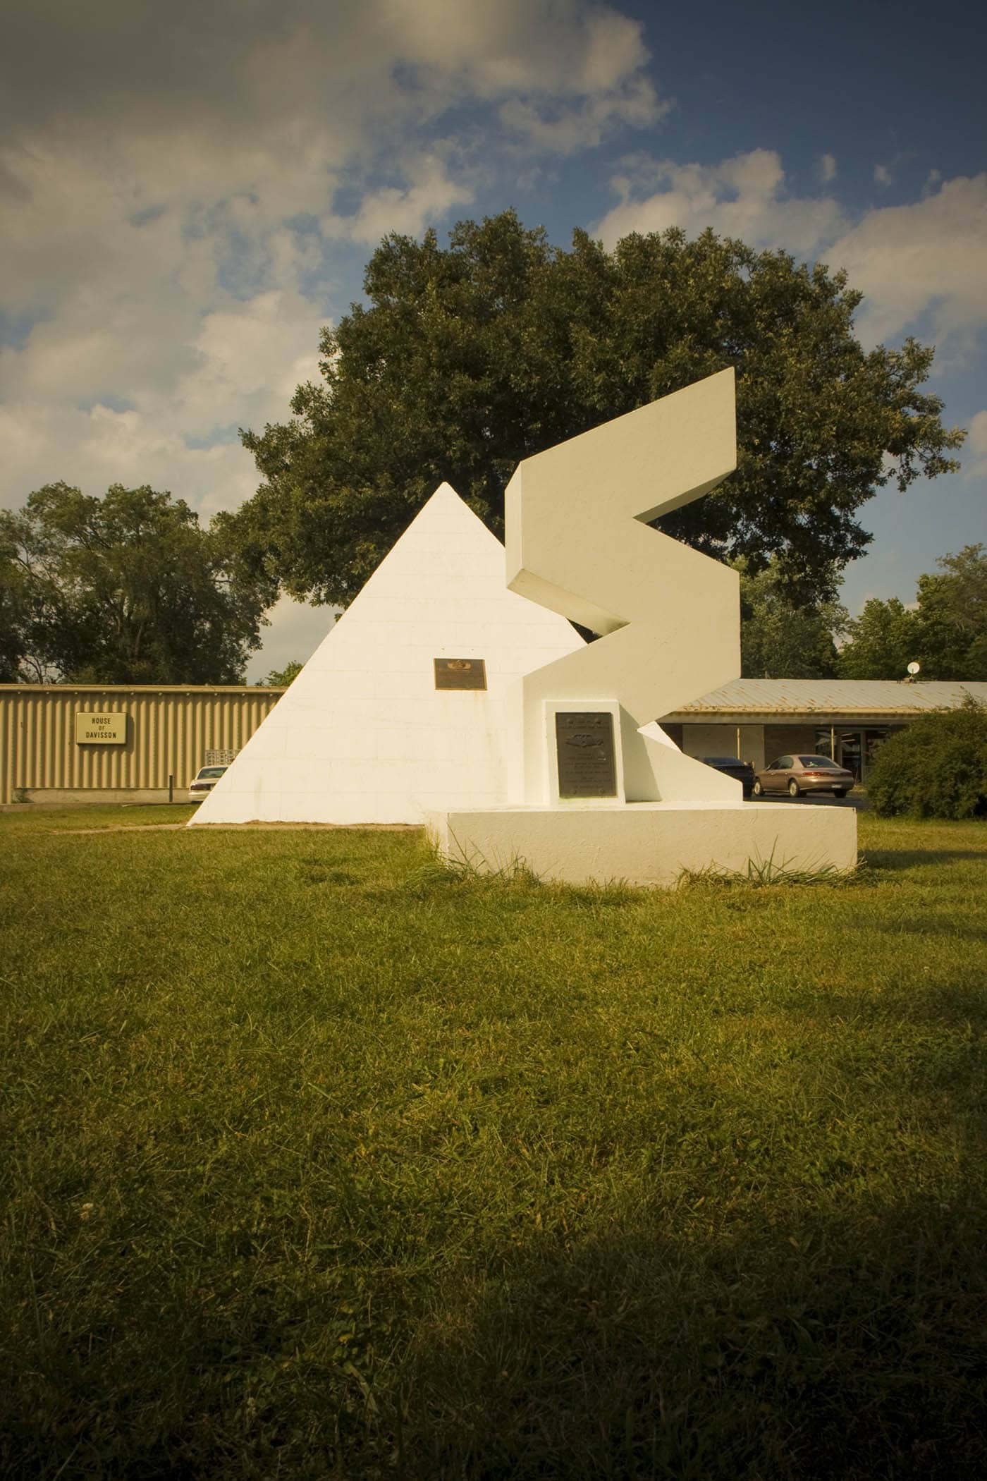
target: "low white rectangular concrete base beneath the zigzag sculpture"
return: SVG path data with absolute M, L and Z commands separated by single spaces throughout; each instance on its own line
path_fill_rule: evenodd
M 852 807 L 790 803 L 627 803 L 610 809 L 496 807 L 431 812 L 445 859 L 481 872 L 522 863 L 567 884 L 673 886 L 684 869 L 852 869 Z

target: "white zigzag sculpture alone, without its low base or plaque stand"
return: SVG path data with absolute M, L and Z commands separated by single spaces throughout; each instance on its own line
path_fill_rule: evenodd
M 737 465 L 734 372 L 685 387 L 518 465 L 508 586 L 601 634 L 522 680 L 518 801 L 548 800 L 545 701 L 620 702 L 626 801 L 740 801 L 740 783 L 654 724 L 740 674 L 737 572 L 647 527 Z

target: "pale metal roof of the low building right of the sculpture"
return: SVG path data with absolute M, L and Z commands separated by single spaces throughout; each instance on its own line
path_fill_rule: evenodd
M 987 703 L 987 683 L 895 678 L 734 678 L 666 720 L 695 715 L 914 715 L 956 709 L 966 695 Z

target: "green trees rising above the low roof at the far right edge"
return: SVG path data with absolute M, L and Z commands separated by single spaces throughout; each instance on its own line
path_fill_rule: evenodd
M 987 680 L 987 549 L 965 545 L 937 564 L 919 576 L 913 607 L 872 597 L 846 624 L 843 678 L 904 678 L 916 662 L 922 678 Z

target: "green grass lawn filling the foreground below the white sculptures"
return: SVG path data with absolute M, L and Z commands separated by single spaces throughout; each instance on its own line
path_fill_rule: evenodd
M 849 884 L 0 816 L 0 1472 L 987 1475 L 987 826 Z

